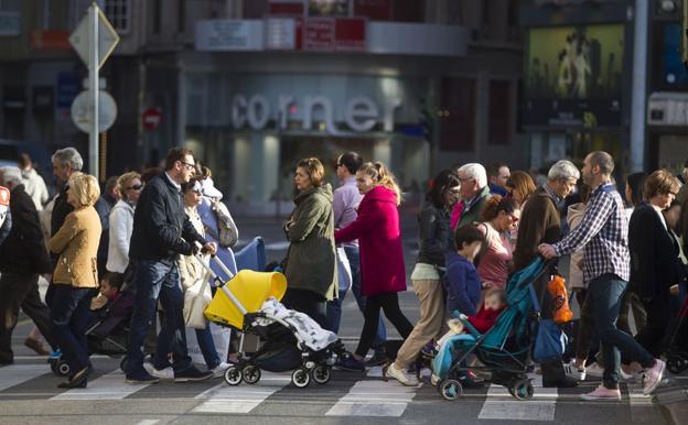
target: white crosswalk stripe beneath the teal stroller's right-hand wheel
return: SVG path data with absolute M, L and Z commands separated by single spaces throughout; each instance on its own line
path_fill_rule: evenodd
M 542 377 L 529 374 L 533 379 L 535 394 L 533 400 L 518 401 L 508 393 L 505 386 L 491 384 L 479 419 L 502 421 L 555 421 L 557 397 L 556 388 L 542 388 Z

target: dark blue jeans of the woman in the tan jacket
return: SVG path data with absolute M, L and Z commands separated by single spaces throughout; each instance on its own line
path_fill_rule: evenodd
M 51 320 L 53 336 L 73 373 L 88 367 L 86 329 L 90 318 L 94 290 L 53 284 Z

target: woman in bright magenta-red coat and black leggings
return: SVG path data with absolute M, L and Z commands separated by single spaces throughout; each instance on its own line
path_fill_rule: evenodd
M 367 296 L 363 330 L 356 352 L 340 361 L 342 369 L 363 371 L 364 358 L 375 339 L 380 308 L 404 339 L 413 325 L 399 308 L 398 292 L 406 291 L 406 268 L 399 227 L 401 201 L 399 186 L 387 167 L 380 163 L 365 163 L 356 173 L 356 185 L 365 195 L 358 206 L 358 217 L 334 233 L 336 243 L 358 239 L 361 246 L 361 282 Z

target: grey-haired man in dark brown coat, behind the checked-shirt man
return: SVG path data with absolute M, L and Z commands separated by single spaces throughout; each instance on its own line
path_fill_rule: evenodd
M 518 238 L 514 251 L 514 268 L 526 268 L 538 255 L 538 246 L 553 243 L 561 236 L 561 216 L 557 207 L 576 187 L 580 172 L 569 161 L 559 161 L 549 168 L 547 182 L 529 197 L 520 212 Z M 538 291 L 544 293 L 542 316 L 551 317 L 551 299 L 544 287 L 545 282 L 538 283 Z M 576 386 L 573 379 L 567 378 L 561 359 L 546 361 L 540 364 L 544 386 L 570 388 Z

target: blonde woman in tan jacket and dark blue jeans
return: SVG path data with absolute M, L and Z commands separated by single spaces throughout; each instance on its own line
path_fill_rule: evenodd
M 60 254 L 53 273 L 51 319 L 62 355 L 74 372 L 60 388 L 86 388 L 92 367 L 86 327 L 90 298 L 98 287 L 96 257 L 100 241 L 100 218 L 94 204 L 100 196 L 98 181 L 87 174 L 69 177 L 67 203 L 74 207 L 49 247 Z

